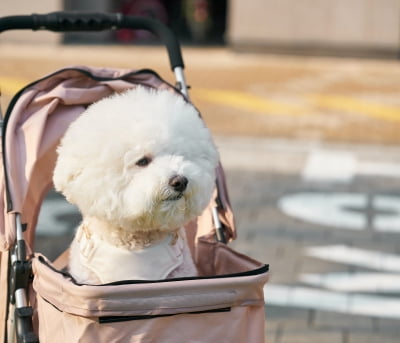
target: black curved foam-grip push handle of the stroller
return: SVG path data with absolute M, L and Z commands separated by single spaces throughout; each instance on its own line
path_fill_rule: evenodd
M 174 33 L 163 23 L 150 18 L 95 12 L 52 12 L 0 18 L 0 33 L 24 29 L 54 32 L 146 30 L 155 34 L 166 45 L 172 70 L 184 67 L 181 48 Z

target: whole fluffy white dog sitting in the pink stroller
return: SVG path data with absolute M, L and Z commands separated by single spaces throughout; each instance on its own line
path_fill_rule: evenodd
M 83 216 L 70 249 L 77 282 L 196 275 L 182 227 L 208 205 L 219 157 L 191 104 L 142 86 L 113 95 L 57 151 L 55 188 Z

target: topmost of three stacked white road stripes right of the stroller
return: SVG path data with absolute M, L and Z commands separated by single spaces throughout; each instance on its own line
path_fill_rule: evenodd
M 346 245 L 329 245 L 305 249 L 307 256 L 325 261 L 345 263 L 383 272 L 400 272 L 400 255 L 370 251 Z

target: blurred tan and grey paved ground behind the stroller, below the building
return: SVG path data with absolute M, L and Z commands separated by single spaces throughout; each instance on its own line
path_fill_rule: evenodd
M 3 104 L 69 64 L 152 67 L 172 80 L 156 47 L 0 49 Z M 227 170 L 234 245 L 271 265 L 268 342 L 397 342 L 398 62 L 193 48 L 184 57 Z M 66 226 L 41 231 L 38 248 L 56 254 L 79 219 L 54 196 L 45 205 Z

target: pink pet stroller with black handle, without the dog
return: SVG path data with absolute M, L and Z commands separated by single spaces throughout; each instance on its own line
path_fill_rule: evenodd
M 50 13 L 0 18 L 10 29 L 145 29 L 166 44 L 176 87 L 151 70 L 72 67 L 24 87 L 4 116 L 0 206 L 2 342 L 264 342 L 268 266 L 235 252 L 222 167 L 215 198 L 187 225 L 198 277 L 76 283 L 57 261 L 34 252 L 35 227 L 60 137 L 87 105 L 137 85 L 187 96 L 180 47 L 160 23 L 120 14 Z

